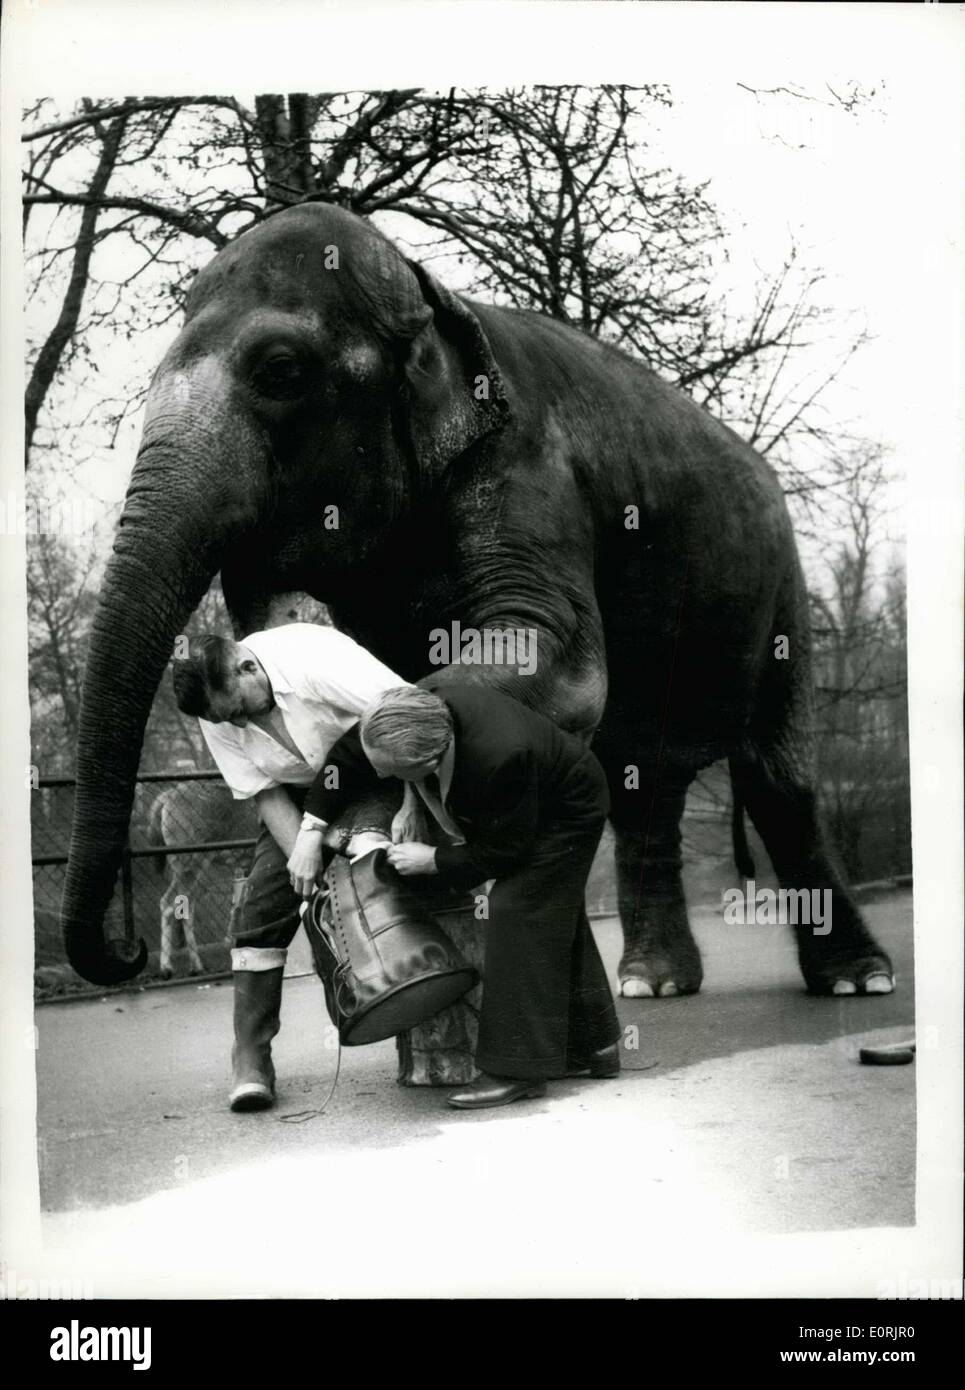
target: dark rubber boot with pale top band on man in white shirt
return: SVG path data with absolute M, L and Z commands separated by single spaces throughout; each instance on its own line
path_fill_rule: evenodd
M 286 954 L 279 947 L 239 947 L 231 952 L 235 981 L 232 1111 L 264 1111 L 274 1105 L 271 1040 L 281 1027 L 281 981 Z

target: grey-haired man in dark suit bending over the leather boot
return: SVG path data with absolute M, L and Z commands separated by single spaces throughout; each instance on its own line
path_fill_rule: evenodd
M 388 858 L 400 874 L 438 874 L 455 888 L 495 878 L 476 1052 L 482 1074 L 449 1104 L 505 1105 L 545 1094 L 552 1077 L 616 1076 L 620 1027 L 584 903 L 609 809 L 590 749 L 508 695 L 434 678 L 388 691 L 335 744 L 327 767 L 338 778 L 324 770 L 316 778 L 303 837 L 314 831 L 320 842 L 374 767 L 414 784 L 449 841 L 394 845 Z M 307 838 L 303 848 L 311 859 Z

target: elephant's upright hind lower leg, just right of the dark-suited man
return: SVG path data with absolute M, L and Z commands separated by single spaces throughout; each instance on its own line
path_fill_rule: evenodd
M 680 820 L 692 774 L 645 776 L 640 769 L 635 785 L 637 777 L 633 770 L 627 773 L 624 758 L 609 762 L 623 923 L 620 994 L 629 998 L 694 994 L 704 969 L 680 880 Z

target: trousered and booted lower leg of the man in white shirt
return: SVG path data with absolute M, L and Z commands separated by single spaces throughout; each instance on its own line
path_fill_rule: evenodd
M 299 929 L 299 906 L 300 898 L 288 880 L 288 860 L 263 826 L 231 952 L 235 984 L 232 1111 L 260 1111 L 274 1102 L 271 1040 L 281 1027 L 281 981 L 288 947 Z

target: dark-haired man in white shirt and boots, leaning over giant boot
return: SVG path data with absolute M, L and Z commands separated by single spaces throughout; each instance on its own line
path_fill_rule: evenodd
M 305 795 L 330 748 L 366 706 L 407 684 L 350 637 L 311 623 L 252 632 L 242 642 L 207 635 L 174 663 L 178 708 L 197 716 L 232 795 L 254 798 L 261 820 L 231 952 L 234 1111 L 274 1102 L 271 1040 L 281 1026 L 285 956 L 299 929 L 300 897 L 314 887 L 314 872 L 295 872 L 305 870 L 305 856 L 292 860 Z M 394 838 L 409 838 L 410 805 L 406 798 Z M 356 833 L 348 848 L 362 852 L 371 835 L 387 838 Z

